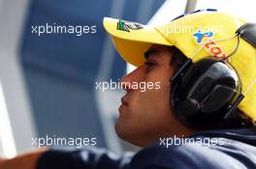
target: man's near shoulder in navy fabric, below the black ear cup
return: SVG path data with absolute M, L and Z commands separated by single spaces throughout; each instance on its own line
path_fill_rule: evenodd
M 254 162 L 256 161 L 256 147 L 254 145 L 219 132 L 208 133 L 183 138 L 183 141 L 179 140 L 179 144 L 175 144 L 174 140 L 168 140 L 169 144 L 167 144 L 167 139 L 164 144 L 162 139 L 162 142 L 151 145 L 135 155 L 131 167 L 150 168 L 149 165 L 151 165 L 172 169 L 202 167 L 225 169 L 244 166 L 256 168 L 256 162 Z

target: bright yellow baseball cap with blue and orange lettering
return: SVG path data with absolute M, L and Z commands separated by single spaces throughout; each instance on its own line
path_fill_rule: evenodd
M 105 17 L 103 24 L 112 35 L 122 58 L 139 67 L 144 64 L 144 52 L 152 44 L 176 46 L 196 62 L 209 55 L 225 57 L 237 44 L 236 31 L 246 23 L 230 14 L 201 12 L 188 14 L 159 27 L 149 27 L 122 19 Z M 196 56 L 195 56 L 196 54 Z M 256 49 L 240 39 L 238 50 L 230 64 L 239 72 L 244 93 L 256 79 Z M 240 102 L 240 110 L 256 121 L 256 84 Z

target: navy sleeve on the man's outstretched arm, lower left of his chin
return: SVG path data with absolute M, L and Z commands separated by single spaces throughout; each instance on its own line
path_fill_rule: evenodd
M 116 156 L 104 149 L 50 149 L 37 162 L 37 169 L 126 169 L 132 154 Z

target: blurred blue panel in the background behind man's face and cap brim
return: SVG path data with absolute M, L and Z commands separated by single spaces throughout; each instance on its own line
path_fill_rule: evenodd
M 164 0 L 33 0 L 29 7 L 20 43 L 20 60 L 33 117 L 39 136 L 96 137 L 97 145 L 107 147 L 99 118 L 95 81 L 117 81 L 126 63 L 106 55 L 104 16 L 124 18 L 146 24 Z M 113 11 L 113 12 L 112 12 Z M 31 25 L 96 25 L 96 34 L 80 37 L 69 34 L 31 34 Z M 112 44 L 111 44 L 112 45 Z M 112 60 L 102 63 L 102 60 Z M 104 66 L 102 64 L 109 64 Z M 109 73 L 102 74 L 100 67 Z M 111 100 L 119 102 L 119 100 Z M 117 109 L 116 112 L 117 115 Z

